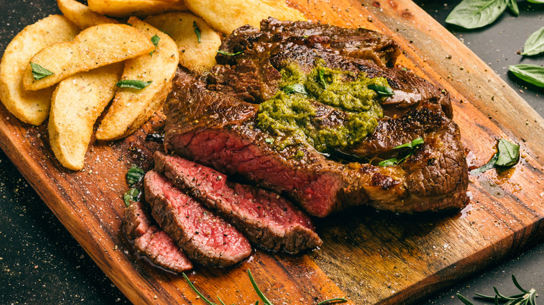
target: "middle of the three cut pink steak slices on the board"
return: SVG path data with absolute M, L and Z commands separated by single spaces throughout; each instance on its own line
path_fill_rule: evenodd
M 191 260 L 206 266 L 227 267 L 251 254 L 247 238 L 176 189 L 165 176 L 149 171 L 144 188 L 153 218 Z

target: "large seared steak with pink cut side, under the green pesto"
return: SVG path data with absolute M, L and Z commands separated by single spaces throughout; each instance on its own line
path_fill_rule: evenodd
M 261 31 L 244 26 L 235 31 L 236 36 L 227 37 L 221 49 L 243 53 L 218 54 L 221 65 L 206 77 L 193 77 L 184 70 L 176 73 L 164 107 L 166 150 L 283 192 L 318 217 L 361 204 L 395 212 L 464 206 L 467 163 L 446 91 L 412 72 L 388 68 L 395 56 L 378 60 L 385 58 L 380 48 L 369 49 L 376 56 L 356 56 L 342 52 L 349 46 L 347 41 L 331 45 L 315 40 L 325 41 L 338 33 L 345 40 L 369 40 L 353 41 L 353 45 L 375 45 L 386 41 L 381 36 L 357 36 L 336 27 L 274 19 L 264 20 L 261 26 Z M 297 36 L 307 31 L 316 31 L 316 38 Z M 271 135 L 257 127 L 258 103 L 278 91 L 279 71 L 286 65 L 296 63 L 308 72 L 318 62 L 326 68 L 385 77 L 394 93 L 381 102 L 385 117 L 366 139 L 338 154 L 333 151 L 330 157 L 304 141 L 278 150 L 267 139 L 272 136 L 282 142 L 289 135 Z M 234 85 L 236 81 L 243 86 Z M 317 123 L 338 124 L 346 118 L 342 110 L 325 104 L 318 103 L 315 109 Z M 418 137 L 424 139 L 423 145 L 404 162 L 395 166 L 372 162 L 395 157 L 395 146 Z

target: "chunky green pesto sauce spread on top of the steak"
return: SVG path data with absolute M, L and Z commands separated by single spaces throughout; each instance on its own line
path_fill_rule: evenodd
M 257 114 L 260 129 L 280 136 L 273 141 L 277 150 L 302 141 L 308 141 L 322 153 L 353 146 L 372 133 L 378 125 L 377 118 L 384 116 L 379 102 L 385 97 L 368 88 L 370 84 L 389 87 L 384 77 L 369 79 L 363 72 L 357 75 L 322 65 L 305 75 L 294 64 L 287 65 L 280 74 L 280 90 L 260 104 Z M 300 90 L 284 91 L 295 84 L 302 85 L 308 94 Z M 347 123 L 317 127 L 317 109 L 310 102 L 312 100 L 345 111 Z

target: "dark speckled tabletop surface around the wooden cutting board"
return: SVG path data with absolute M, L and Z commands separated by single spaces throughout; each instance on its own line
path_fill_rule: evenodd
M 445 26 L 446 16 L 460 1 L 415 2 Z M 505 13 L 483 29 L 447 28 L 544 116 L 544 89 L 515 79 L 507 69 L 521 62 L 544 64 L 543 56 L 516 54 L 529 35 L 544 26 L 544 5 L 527 1 L 518 5 L 520 17 Z M 50 13 L 58 13 L 54 0 L 0 0 L 0 52 L 24 26 Z M 470 298 L 474 292 L 493 295 L 492 286 L 514 293 L 511 274 L 525 288 L 544 295 L 544 243 L 418 304 L 462 304 L 454 297 L 456 292 Z M 0 151 L 0 304 L 47 303 L 130 304 Z

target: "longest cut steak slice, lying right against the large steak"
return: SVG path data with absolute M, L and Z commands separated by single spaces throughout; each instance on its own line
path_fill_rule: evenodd
M 322 244 L 303 212 L 271 191 L 227 182 L 227 176 L 181 157 L 156 152 L 155 170 L 228 219 L 267 250 L 299 253 Z

